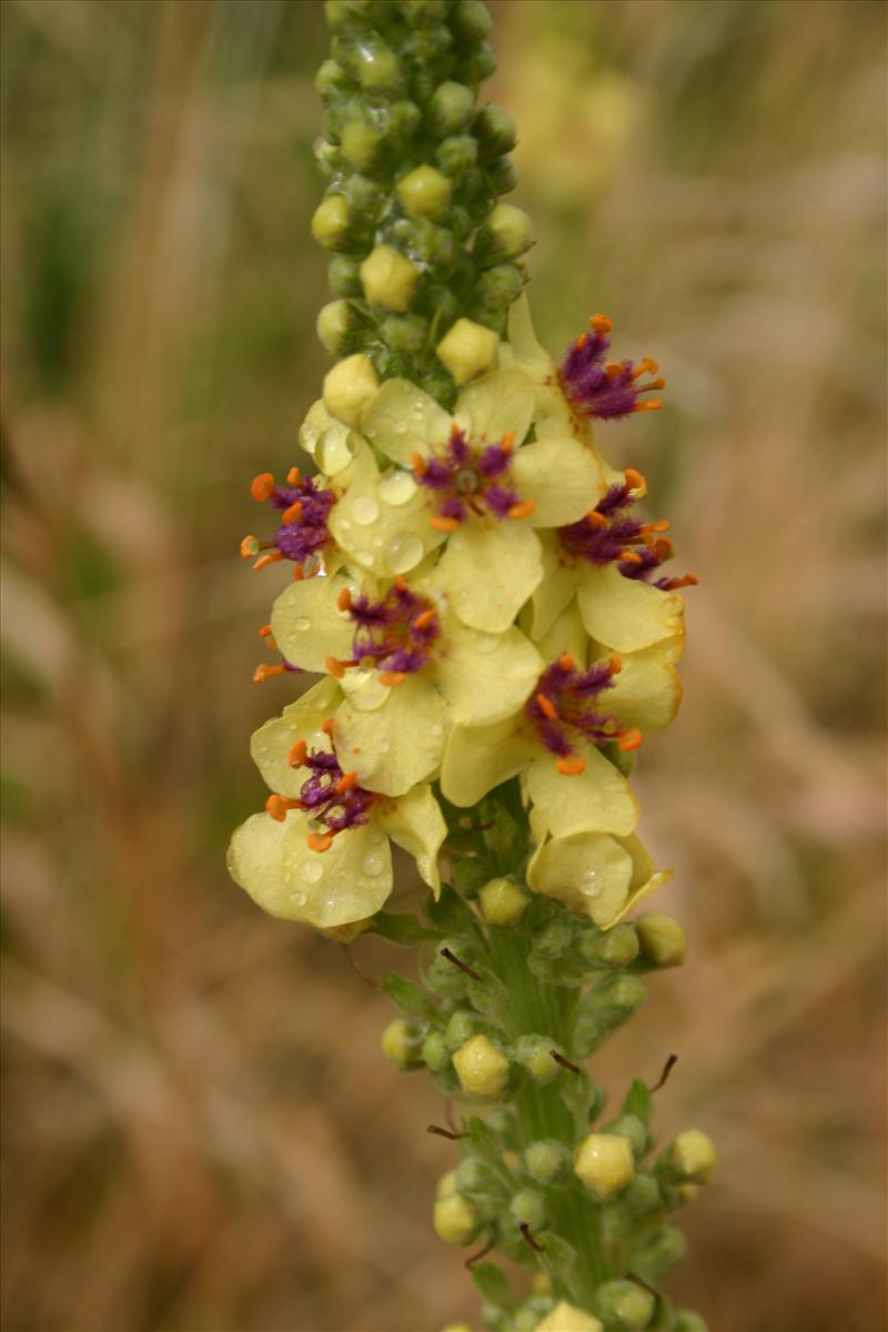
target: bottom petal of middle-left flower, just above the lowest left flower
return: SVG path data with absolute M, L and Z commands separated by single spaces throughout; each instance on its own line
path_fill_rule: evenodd
M 375 702 L 375 681 L 366 686 Z M 443 703 L 429 670 L 386 689 L 382 706 L 362 709 L 361 690 L 335 714 L 333 742 L 339 766 L 357 773 L 358 786 L 382 795 L 403 795 L 417 782 L 437 774 L 445 747 Z

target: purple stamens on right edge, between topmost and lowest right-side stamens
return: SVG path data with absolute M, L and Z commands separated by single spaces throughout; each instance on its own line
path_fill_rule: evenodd
M 655 570 L 672 558 L 672 542 L 662 535 L 668 522 L 644 522 L 634 513 L 647 484 L 634 468 L 627 468 L 624 476 L 626 480 L 610 486 L 586 517 L 558 529 L 562 546 L 578 559 L 599 567 L 615 563 L 624 578 L 652 582 L 662 591 L 694 586 L 698 581 L 694 574 L 652 578 Z

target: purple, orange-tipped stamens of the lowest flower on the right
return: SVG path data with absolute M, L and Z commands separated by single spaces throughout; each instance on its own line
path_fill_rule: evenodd
M 572 657 L 564 653 L 546 667 L 525 703 L 525 714 L 538 739 L 558 757 L 558 770 L 566 777 L 576 777 L 584 770 L 586 759 L 576 751 L 590 742 L 616 741 L 624 751 L 642 743 L 636 727 L 620 727 L 616 718 L 598 706 L 599 694 L 611 687 L 620 669 L 622 662 L 614 655 L 588 670 L 578 670 Z

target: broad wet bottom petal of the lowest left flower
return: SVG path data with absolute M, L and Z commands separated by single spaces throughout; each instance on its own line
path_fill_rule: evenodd
M 232 878 L 284 920 L 329 930 L 374 915 L 391 892 L 391 851 L 379 823 L 339 832 L 328 851 L 309 847 L 310 831 L 301 810 L 282 822 L 254 814 L 232 838 Z

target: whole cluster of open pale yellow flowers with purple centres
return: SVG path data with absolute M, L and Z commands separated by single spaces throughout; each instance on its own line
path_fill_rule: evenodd
M 575 361 L 590 337 L 598 360 L 607 346 L 610 321 L 590 322 Z M 350 356 L 300 434 L 317 474 L 253 482 L 280 526 L 242 553 L 296 573 L 265 630 L 281 661 L 257 678 L 324 678 L 253 737 L 273 794 L 234 832 L 230 872 L 273 915 L 357 932 L 391 892 L 390 842 L 438 891 L 437 791 L 469 807 L 521 774 L 529 886 L 607 928 L 668 876 L 635 835 L 627 774 L 676 713 L 676 587 L 694 579 L 655 579 L 666 523 L 636 517 L 644 478 L 596 452 L 583 366 L 571 380 L 539 345 L 525 297 L 506 340 L 459 320 L 438 354 L 453 413 Z

